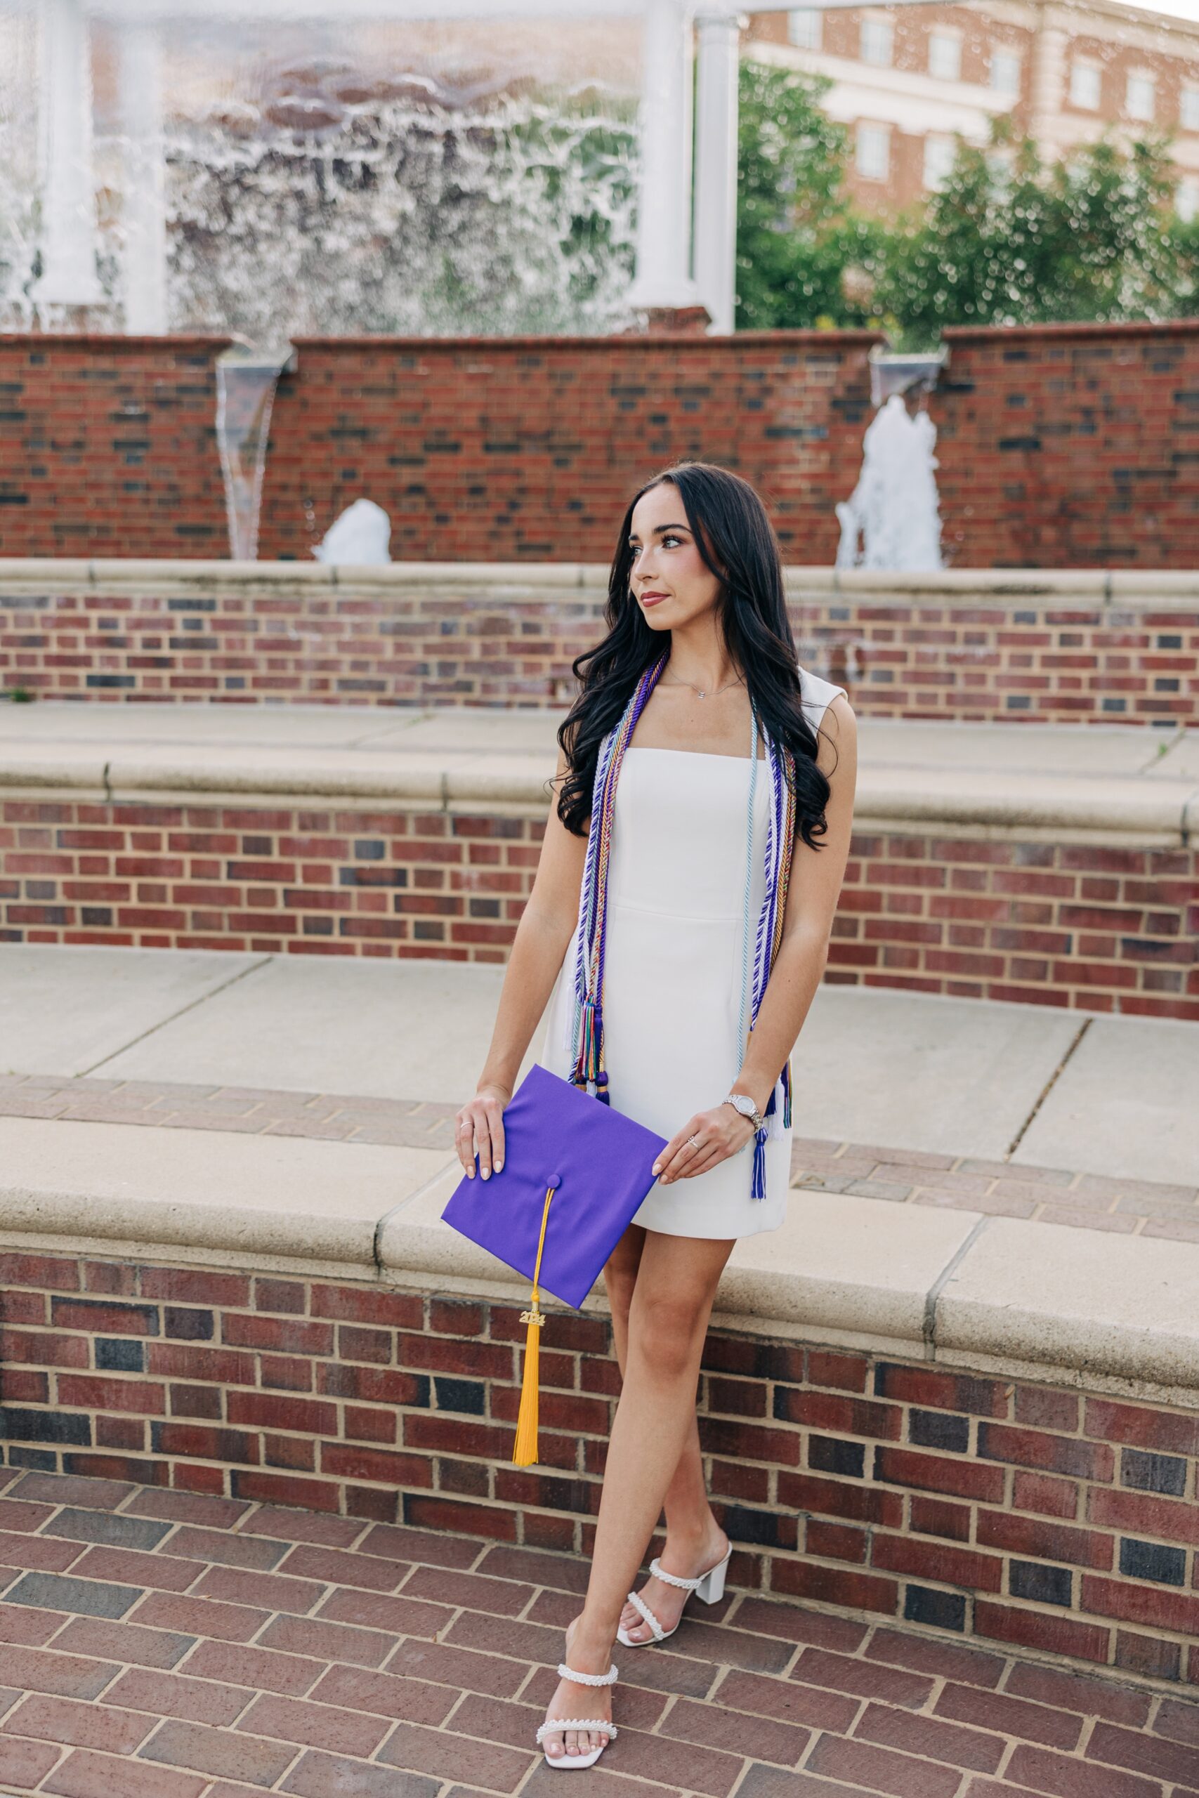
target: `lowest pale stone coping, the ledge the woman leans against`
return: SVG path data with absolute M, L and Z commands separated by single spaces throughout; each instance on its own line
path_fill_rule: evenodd
M 440 1221 L 457 1179 L 444 1149 L 0 1118 L 0 1248 L 527 1302 Z M 1197 1293 L 1199 1244 L 795 1188 L 714 1323 L 1199 1406 Z

